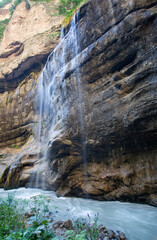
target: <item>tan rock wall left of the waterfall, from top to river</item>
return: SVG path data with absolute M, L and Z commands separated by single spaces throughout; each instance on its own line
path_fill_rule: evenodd
M 0 186 L 5 188 L 24 185 L 37 166 L 39 149 L 30 141 L 38 124 L 37 79 L 59 42 L 63 19 L 54 15 L 58 0 L 30 3 L 29 10 L 24 1 L 16 7 L 0 43 Z M 0 19 L 7 14 L 9 5 L 0 9 Z

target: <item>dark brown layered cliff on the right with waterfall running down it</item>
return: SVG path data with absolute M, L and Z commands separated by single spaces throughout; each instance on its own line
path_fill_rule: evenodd
M 156 24 L 156 0 L 91 0 L 64 29 L 41 77 L 58 195 L 157 203 Z

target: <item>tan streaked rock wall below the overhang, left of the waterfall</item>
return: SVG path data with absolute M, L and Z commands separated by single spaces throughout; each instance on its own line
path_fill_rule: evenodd
M 37 118 L 34 113 L 36 79 L 30 74 L 14 91 L 0 94 L 0 147 L 22 145 Z

